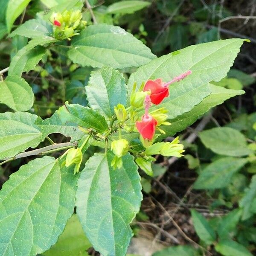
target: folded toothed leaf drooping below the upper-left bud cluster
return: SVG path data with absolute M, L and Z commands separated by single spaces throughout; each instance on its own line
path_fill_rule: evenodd
M 55 38 L 49 36 L 38 37 L 29 41 L 29 43 L 20 49 L 12 58 L 8 74 L 21 76 L 23 72 L 33 70 L 45 55 L 45 48 L 42 47 L 42 45 L 50 44 L 55 41 Z

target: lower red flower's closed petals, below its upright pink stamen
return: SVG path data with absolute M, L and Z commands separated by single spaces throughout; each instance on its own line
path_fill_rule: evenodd
M 141 121 L 136 122 L 136 128 L 144 139 L 152 140 L 156 131 L 157 121 L 148 114 L 142 116 Z

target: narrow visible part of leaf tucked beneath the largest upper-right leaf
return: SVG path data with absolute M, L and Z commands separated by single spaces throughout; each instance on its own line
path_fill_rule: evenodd
M 172 125 L 163 126 L 163 130 L 166 132 L 167 136 L 173 136 L 177 132 L 183 131 L 189 125 L 192 125 L 200 116 L 209 111 L 210 108 L 222 104 L 225 100 L 230 99 L 231 97 L 244 94 L 243 90 L 229 90 L 213 84 L 210 84 L 210 88 L 212 93 L 192 108 L 191 111 L 168 120 Z M 166 135 L 162 135 L 160 138 L 162 139 L 166 137 Z

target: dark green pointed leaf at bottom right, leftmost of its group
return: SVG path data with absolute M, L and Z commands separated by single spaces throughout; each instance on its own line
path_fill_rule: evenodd
M 212 244 L 216 239 L 216 234 L 212 230 L 206 218 L 196 210 L 191 210 L 191 214 L 195 232 L 206 244 Z

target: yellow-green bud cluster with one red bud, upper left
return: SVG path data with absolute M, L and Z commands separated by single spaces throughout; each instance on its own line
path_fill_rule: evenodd
M 82 20 L 82 14 L 79 10 L 53 13 L 50 22 L 53 24 L 53 37 L 57 39 L 67 38 L 68 40 L 74 35 L 79 35 L 78 32 L 84 29 L 87 23 Z

